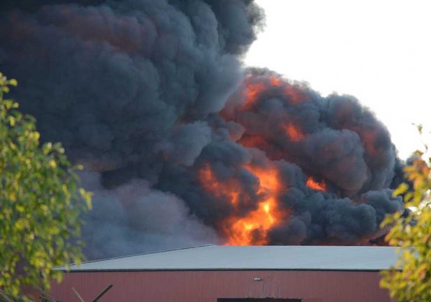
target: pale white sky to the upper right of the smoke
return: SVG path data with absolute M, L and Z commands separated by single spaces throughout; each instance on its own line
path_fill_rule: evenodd
M 356 96 L 386 124 L 402 159 L 431 130 L 431 1 L 257 0 L 266 25 L 244 63 Z M 423 149 L 423 148 L 422 148 Z

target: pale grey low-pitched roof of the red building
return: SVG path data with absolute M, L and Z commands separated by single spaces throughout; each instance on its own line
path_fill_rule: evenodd
M 379 271 L 396 261 L 395 247 L 220 246 L 138 254 L 97 261 L 71 271 L 329 270 Z M 66 266 L 57 267 L 66 270 Z

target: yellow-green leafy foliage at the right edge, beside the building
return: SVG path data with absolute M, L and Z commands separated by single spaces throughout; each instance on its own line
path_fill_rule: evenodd
M 404 168 L 412 188 L 403 183 L 394 192 L 404 194 L 410 212 L 390 215 L 382 224 L 391 227 L 386 240 L 400 247 L 400 254 L 395 267 L 383 271 L 381 287 L 398 302 L 431 301 L 431 158 L 419 151 L 415 156 L 413 164 Z

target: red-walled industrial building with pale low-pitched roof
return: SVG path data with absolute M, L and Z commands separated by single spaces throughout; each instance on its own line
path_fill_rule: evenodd
M 50 294 L 94 301 L 109 287 L 98 301 L 390 302 L 379 271 L 395 260 L 393 247 L 203 245 L 72 265 Z

